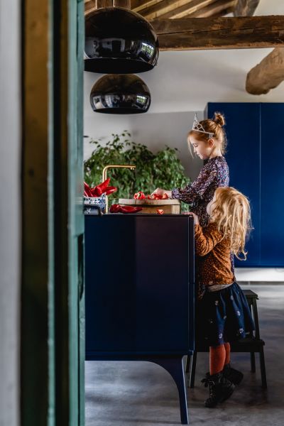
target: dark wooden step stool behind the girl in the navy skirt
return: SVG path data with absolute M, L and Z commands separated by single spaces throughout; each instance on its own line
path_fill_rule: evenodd
M 231 352 L 250 352 L 251 353 L 251 371 L 253 373 L 256 372 L 256 359 L 255 353 L 259 354 L 259 361 L 261 366 L 261 384 L 263 388 L 267 388 L 266 382 L 266 363 L 264 360 L 264 351 L 263 346 L 265 343 L 260 338 L 259 334 L 259 324 L 258 324 L 258 310 L 256 305 L 256 300 L 258 299 L 258 295 L 254 293 L 252 290 L 243 290 L 244 295 L 246 296 L 246 300 L 251 309 L 251 315 L 254 320 L 254 324 L 256 326 L 256 330 L 254 334 L 248 335 L 244 339 L 240 339 L 238 342 L 234 342 L 231 344 Z M 208 352 L 208 346 L 198 346 L 196 350 L 193 352 L 192 356 L 187 356 L 187 364 L 186 364 L 186 373 L 190 371 L 190 388 L 194 388 L 195 386 L 195 369 L 196 369 L 196 361 L 197 361 L 197 352 Z M 190 362 L 191 361 L 191 362 Z

